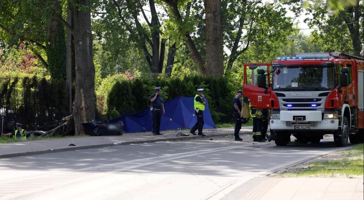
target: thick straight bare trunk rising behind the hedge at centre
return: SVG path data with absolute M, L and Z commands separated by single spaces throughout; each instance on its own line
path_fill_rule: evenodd
M 221 26 L 221 1 L 205 0 L 206 11 L 206 75 L 221 77 L 224 74 L 224 57 Z M 218 24 L 218 25 L 215 25 Z

